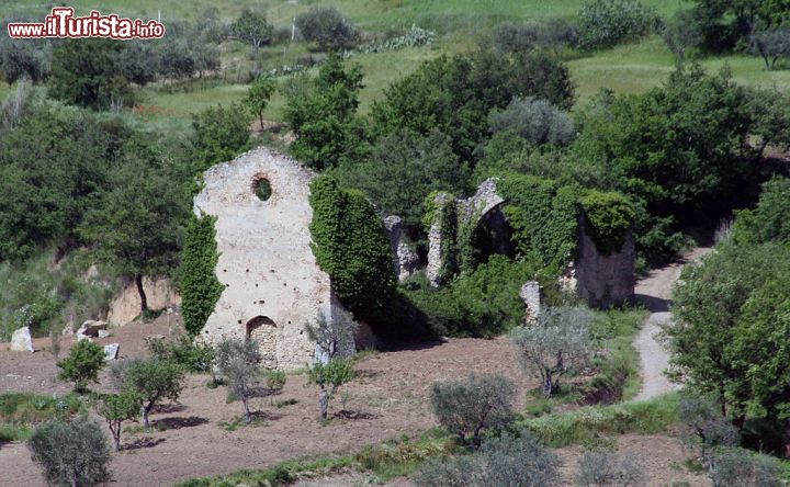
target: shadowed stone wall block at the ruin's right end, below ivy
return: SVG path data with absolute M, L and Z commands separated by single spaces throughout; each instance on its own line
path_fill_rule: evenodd
M 579 218 L 578 258 L 574 262 L 576 295 L 590 306 L 607 308 L 631 301 L 636 285 L 636 250 L 631 234 L 622 248 L 602 254 L 585 231 L 584 215 Z

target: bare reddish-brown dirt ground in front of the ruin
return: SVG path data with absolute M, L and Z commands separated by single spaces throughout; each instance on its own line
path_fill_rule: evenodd
M 177 315 L 166 315 L 147 325 L 131 324 L 113 330 L 101 343 L 117 342 L 120 355 L 145 353 L 145 337 L 169 335 L 180 329 Z M 61 355 L 68 353 L 72 338 L 63 339 Z M 56 380 L 55 358 L 47 351 L 49 339 L 36 339 L 35 353 L 12 353 L 0 343 L 0 392 L 31 390 L 65 394 L 68 384 Z M 151 416 L 153 431 L 122 437 L 123 450 L 111 469 L 114 485 L 171 485 L 192 477 L 228 474 L 240 468 L 262 468 L 283 460 L 358 450 L 404 433 L 416 434 L 436 426 L 428 404 L 430 385 L 438 380 L 458 378 L 470 371 L 496 372 L 519 385 L 518 407 L 526 392 L 535 384 L 518 371 L 506 339 L 453 339 L 413 349 L 382 352 L 362 360 L 359 378 L 341 389 L 334 411 L 350 411 L 320 426 L 317 416 L 317 389 L 304 374 L 290 375 L 274 401 L 295 399 L 291 406 L 271 406 L 269 397 L 252 399 L 252 409 L 262 419 L 259 426 L 227 431 L 221 423 L 241 416 L 240 403 L 228 404 L 225 387 L 206 387 L 208 376 L 192 375 L 178 404 L 168 405 Z M 106 377 L 97 389 L 106 389 Z M 331 414 L 331 411 L 330 411 Z M 644 450 L 651 460 L 648 475 L 667 480 L 684 478 L 669 468 L 680 461 L 680 450 L 667 438 L 623 437 L 627 448 Z M 629 444 L 628 442 L 633 442 Z M 656 448 L 662 445 L 662 448 Z M 577 454 L 562 450 L 572 463 Z M 645 456 L 642 456 L 645 457 Z M 569 474 L 568 474 L 569 475 Z M 568 477 L 571 478 L 571 477 Z M 305 485 L 362 485 L 369 476 L 346 473 Z M 43 486 L 38 468 L 23 443 L 0 444 L 0 486 Z M 408 485 L 406 479 L 391 485 Z M 696 485 L 696 484 L 692 484 Z

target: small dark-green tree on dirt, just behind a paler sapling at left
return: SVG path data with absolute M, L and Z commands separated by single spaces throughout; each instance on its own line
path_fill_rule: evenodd
M 137 394 L 142 400 L 139 412 L 143 426 L 150 427 L 148 415 L 163 399 L 177 400 L 184 387 L 184 370 L 172 361 L 162 359 L 132 359 L 117 381 L 122 392 Z

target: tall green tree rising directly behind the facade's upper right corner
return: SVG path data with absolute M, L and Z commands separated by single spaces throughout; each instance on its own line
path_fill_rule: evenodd
M 323 170 L 341 161 L 361 160 L 364 122 L 357 116 L 362 70 L 346 69 L 340 56 L 329 56 L 315 80 L 296 79 L 285 89 L 283 120 L 297 138 L 291 154 Z

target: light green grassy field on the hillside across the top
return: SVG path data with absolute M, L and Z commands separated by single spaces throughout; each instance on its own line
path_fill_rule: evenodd
M 688 5 L 682 0 L 643 0 L 662 14 Z M 414 71 L 420 63 L 442 53 L 456 53 L 477 46 L 495 25 L 503 21 L 538 21 L 549 16 L 569 16 L 577 12 L 583 0 L 275 0 L 266 4 L 267 14 L 276 27 L 290 27 L 300 12 L 315 4 L 337 7 L 368 33 L 386 33 L 410 25 L 433 30 L 438 39 L 432 46 L 408 48 L 384 54 L 360 55 L 352 63 L 359 63 L 365 73 L 361 93 L 361 112 L 368 113 L 372 102 L 394 80 Z M 169 2 L 158 0 L 74 0 L 69 3 L 78 12 L 100 9 L 127 15 L 149 18 L 161 11 L 162 21 L 187 19 L 199 20 L 202 12 L 215 5 L 219 15 L 230 20 L 241 9 L 260 4 L 253 0 L 213 1 L 192 0 Z M 0 15 L 26 14 L 41 16 L 44 4 L 40 0 L 15 0 L 0 3 Z M 191 82 L 181 89 L 151 87 L 142 90 L 138 104 L 132 115 L 153 131 L 185 131 L 193 113 L 217 103 L 228 104 L 240 100 L 246 92 L 244 76 L 258 64 L 270 69 L 283 64 L 293 64 L 308 53 L 302 43 L 272 46 L 261 50 L 252 59 L 246 46 L 226 43 L 223 46 L 223 76 L 210 82 Z M 790 69 L 766 71 L 757 57 L 730 55 L 700 59 L 709 71 L 718 71 L 729 65 L 735 80 L 763 87 L 790 87 Z M 675 68 L 675 57 L 658 36 L 652 36 L 639 44 L 618 46 L 592 55 L 567 59 L 577 100 L 584 103 L 600 89 L 609 88 L 618 93 L 637 93 L 662 83 Z M 285 79 L 280 79 L 285 82 Z M 0 83 L 0 97 L 5 97 L 11 87 Z M 266 117 L 282 120 L 282 95 L 275 94 L 266 111 Z

